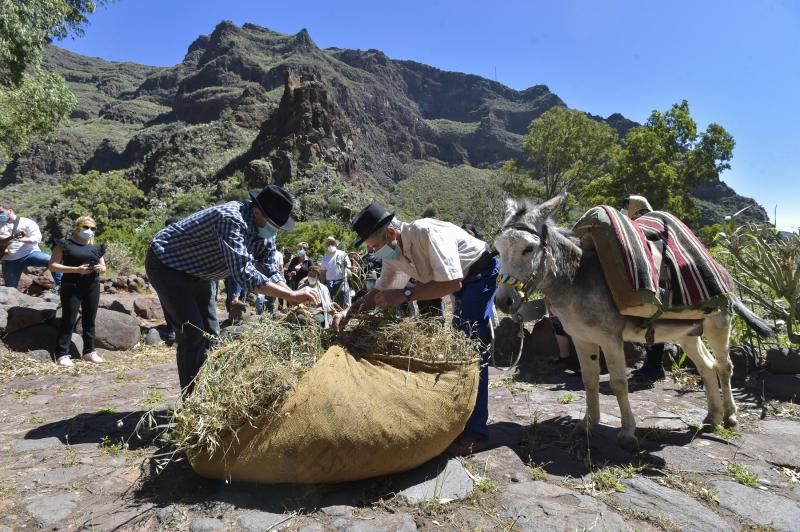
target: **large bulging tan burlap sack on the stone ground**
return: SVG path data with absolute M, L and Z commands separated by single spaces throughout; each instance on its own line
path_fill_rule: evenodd
M 413 469 L 461 433 L 479 365 L 354 357 L 330 348 L 279 415 L 238 431 L 214 456 L 194 455 L 204 477 L 259 483 L 336 483 Z M 230 444 L 230 445 L 229 445 Z

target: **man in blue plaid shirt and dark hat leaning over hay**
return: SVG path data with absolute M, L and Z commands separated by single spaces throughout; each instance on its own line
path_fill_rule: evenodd
M 191 393 L 205 362 L 207 334 L 219 333 L 212 282 L 230 275 L 251 292 L 319 304 L 315 290 L 290 289 L 275 264 L 275 236 L 294 226 L 291 195 L 269 185 L 250 198 L 196 212 L 159 231 L 150 243 L 145 269 L 175 331 L 185 393 Z

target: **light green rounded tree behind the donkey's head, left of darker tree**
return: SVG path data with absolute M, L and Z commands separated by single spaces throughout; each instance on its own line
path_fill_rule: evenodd
M 531 122 L 522 141 L 529 170 L 519 161 L 506 163 L 507 192 L 547 200 L 569 191 L 586 206 L 594 196 L 588 185 L 612 178 L 619 156 L 616 131 L 586 114 L 554 107 Z

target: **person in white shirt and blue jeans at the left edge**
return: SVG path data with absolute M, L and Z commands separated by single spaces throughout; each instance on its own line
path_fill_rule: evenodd
M 0 205 L 0 239 L 20 234 L 13 238 L 3 253 L 3 280 L 6 286 L 16 288 L 19 278 L 28 266 L 47 267 L 50 255 L 39 249 L 42 233 L 30 218 L 17 216 L 8 205 Z M 61 283 L 61 274 L 54 273 L 56 285 Z

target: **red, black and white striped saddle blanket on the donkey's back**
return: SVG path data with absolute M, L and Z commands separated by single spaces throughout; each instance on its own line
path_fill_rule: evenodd
M 725 269 L 678 218 L 654 211 L 631 221 L 594 207 L 573 228 L 594 248 L 622 314 L 697 317 L 724 306 L 732 287 Z

